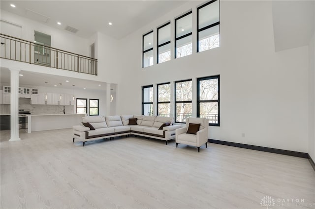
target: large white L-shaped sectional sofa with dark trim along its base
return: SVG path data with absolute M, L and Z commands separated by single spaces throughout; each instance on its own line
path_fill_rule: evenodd
M 137 118 L 137 125 L 129 125 L 129 119 L 133 118 Z M 175 130 L 182 128 L 180 125 L 173 125 L 173 117 L 160 116 L 86 116 L 82 118 L 82 122 L 95 128 L 91 130 L 85 126 L 73 126 L 73 142 L 77 139 L 83 142 L 83 146 L 86 141 L 130 134 L 164 140 L 167 145 L 167 141 L 175 139 Z M 169 126 L 165 126 L 168 123 Z M 162 125 L 165 127 L 161 128 Z

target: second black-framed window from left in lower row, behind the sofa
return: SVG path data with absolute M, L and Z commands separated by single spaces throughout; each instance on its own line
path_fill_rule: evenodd
M 158 114 L 163 117 L 171 115 L 171 83 L 158 84 Z

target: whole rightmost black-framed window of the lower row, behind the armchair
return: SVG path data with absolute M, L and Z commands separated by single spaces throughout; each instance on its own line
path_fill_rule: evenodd
M 197 79 L 197 117 L 208 118 L 211 126 L 220 126 L 220 76 Z

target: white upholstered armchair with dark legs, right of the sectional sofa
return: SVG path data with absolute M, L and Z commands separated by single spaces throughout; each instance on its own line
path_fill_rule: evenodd
M 199 131 L 197 131 L 196 134 L 187 133 L 189 123 L 200 124 Z M 198 152 L 200 152 L 200 146 L 203 144 L 205 144 L 207 148 L 208 126 L 209 120 L 206 118 L 187 118 L 186 126 L 181 129 L 176 129 L 175 132 L 176 148 L 178 144 L 187 144 L 195 146 L 198 148 Z

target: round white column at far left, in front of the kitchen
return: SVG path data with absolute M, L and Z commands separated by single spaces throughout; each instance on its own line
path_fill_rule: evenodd
M 20 69 L 9 68 L 11 71 L 11 137 L 9 141 L 19 141 L 19 72 Z

